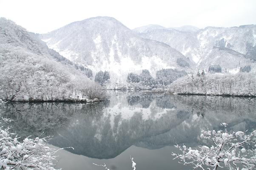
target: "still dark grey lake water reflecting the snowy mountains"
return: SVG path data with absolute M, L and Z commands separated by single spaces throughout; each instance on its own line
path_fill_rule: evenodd
M 174 144 L 196 147 L 206 128 L 249 130 L 256 127 L 255 98 L 177 96 L 138 91 L 109 91 L 109 100 L 81 103 L 10 103 L 4 115 L 20 136 L 53 135 L 49 146 L 61 150 L 63 170 L 187 170 L 173 160 Z

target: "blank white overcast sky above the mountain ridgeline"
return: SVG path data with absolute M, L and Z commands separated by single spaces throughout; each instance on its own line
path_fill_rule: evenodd
M 114 17 L 128 28 L 256 24 L 256 0 L 0 0 L 0 17 L 46 33 L 90 17 Z

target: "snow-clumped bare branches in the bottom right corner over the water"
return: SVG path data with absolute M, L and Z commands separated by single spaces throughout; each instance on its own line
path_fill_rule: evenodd
M 227 125 L 222 124 L 224 127 Z M 181 153 L 172 153 L 182 164 L 191 164 L 194 169 L 216 170 L 228 167 L 229 170 L 255 170 L 256 130 L 250 134 L 242 131 L 227 133 L 225 130 L 203 130 L 200 137 L 211 142 L 212 146 L 199 146 L 192 149 L 185 145 L 175 145 Z M 210 167 L 210 168 L 209 168 Z

